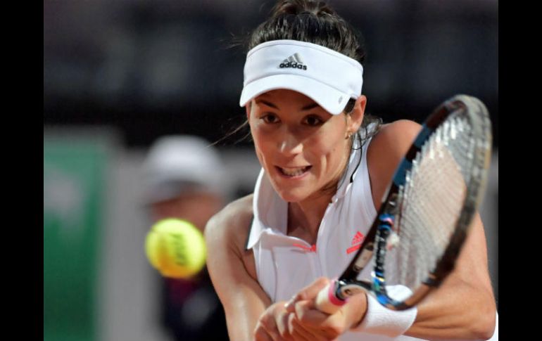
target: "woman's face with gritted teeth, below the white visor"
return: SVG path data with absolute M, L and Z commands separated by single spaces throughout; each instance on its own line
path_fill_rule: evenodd
M 285 89 L 254 98 L 246 110 L 256 155 L 283 200 L 316 198 L 336 185 L 350 154 L 348 135 L 359 127 L 349 115 L 331 115 Z

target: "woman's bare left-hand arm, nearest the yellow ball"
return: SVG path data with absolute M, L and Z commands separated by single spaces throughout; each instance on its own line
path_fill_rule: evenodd
M 254 340 L 270 299 L 256 280 L 251 250 L 244 250 L 252 219 L 252 195 L 232 202 L 208 222 L 207 267 L 225 309 L 230 340 Z

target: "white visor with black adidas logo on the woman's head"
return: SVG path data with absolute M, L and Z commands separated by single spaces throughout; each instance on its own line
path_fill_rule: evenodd
M 270 90 L 289 89 L 338 115 L 348 99 L 358 99 L 362 84 L 363 66 L 342 53 L 304 41 L 267 41 L 246 55 L 239 105 Z

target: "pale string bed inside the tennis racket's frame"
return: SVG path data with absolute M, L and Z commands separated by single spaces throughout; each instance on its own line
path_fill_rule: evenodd
M 412 161 L 396 220 L 398 244 L 386 253 L 389 285 L 418 288 L 443 255 L 467 193 L 474 143 L 469 122 L 453 114 Z

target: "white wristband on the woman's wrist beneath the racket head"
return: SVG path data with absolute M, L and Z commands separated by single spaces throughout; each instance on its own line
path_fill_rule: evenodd
M 402 288 L 401 288 L 402 287 Z M 386 287 L 388 292 L 405 292 L 408 288 L 403 285 L 393 285 Z M 410 292 L 410 290 L 408 290 Z M 406 292 L 405 292 L 406 293 Z M 407 296 L 409 296 L 408 294 Z M 393 297 L 397 297 L 393 295 Z M 363 333 L 387 335 L 389 337 L 396 337 L 403 335 L 405 331 L 412 326 L 417 315 L 417 308 L 413 307 L 403 311 L 395 311 L 388 309 L 380 304 L 377 299 L 367 293 L 367 312 L 363 321 L 353 328 L 354 331 L 360 331 Z

